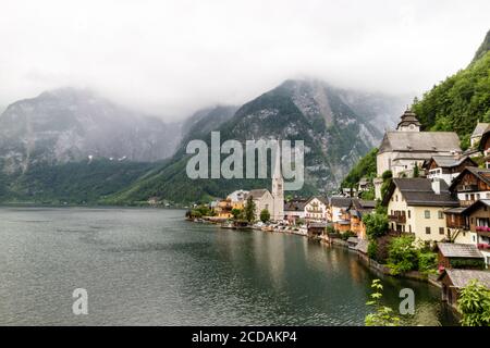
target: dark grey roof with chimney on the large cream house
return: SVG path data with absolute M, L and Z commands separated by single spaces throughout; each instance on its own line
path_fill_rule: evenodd
M 451 196 L 448 184 L 440 181 L 441 192 L 436 194 L 432 190 L 430 179 L 424 177 L 397 177 L 393 178 L 390 185 L 390 191 L 384 196 L 383 204 L 388 206 L 388 200 L 397 187 L 405 198 L 408 206 L 422 207 L 458 207 L 457 199 Z

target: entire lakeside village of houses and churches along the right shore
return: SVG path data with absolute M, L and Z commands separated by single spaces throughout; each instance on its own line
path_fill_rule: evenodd
M 347 247 L 378 271 L 429 279 L 453 307 L 471 279 L 490 287 L 490 124 L 478 122 L 463 151 L 456 133 L 424 132 L 406 110 L 385 132 L 376 163 L 376 177 L 355 188 L 285 199 L 275 165 L 270 191 L 238 189 L 187 217 Z M 396 257 L 396 246 L 408 251 Z

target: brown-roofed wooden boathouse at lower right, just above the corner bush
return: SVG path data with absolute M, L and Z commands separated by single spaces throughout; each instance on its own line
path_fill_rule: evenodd
M 441 283 L 442 300 L 457 309 L 457 298 L 462 288 L 476 279 L 490 289 L 490 272 L 476 270 L 444 270 L 438 277 Z

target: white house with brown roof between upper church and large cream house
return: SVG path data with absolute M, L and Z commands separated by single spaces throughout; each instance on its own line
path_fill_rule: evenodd
M 422 164 L 427 178 L 443 179 L 448 185 L 467 166 L 478 164 L 467 156 L 432 156 Z

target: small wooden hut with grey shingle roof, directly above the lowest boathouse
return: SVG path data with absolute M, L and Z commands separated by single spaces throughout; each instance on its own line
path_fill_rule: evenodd
M 476 246 L 470 244 L 438 243 L 439 268 L 448 269 L 473 269 L 481 270 L 485 260 Z

